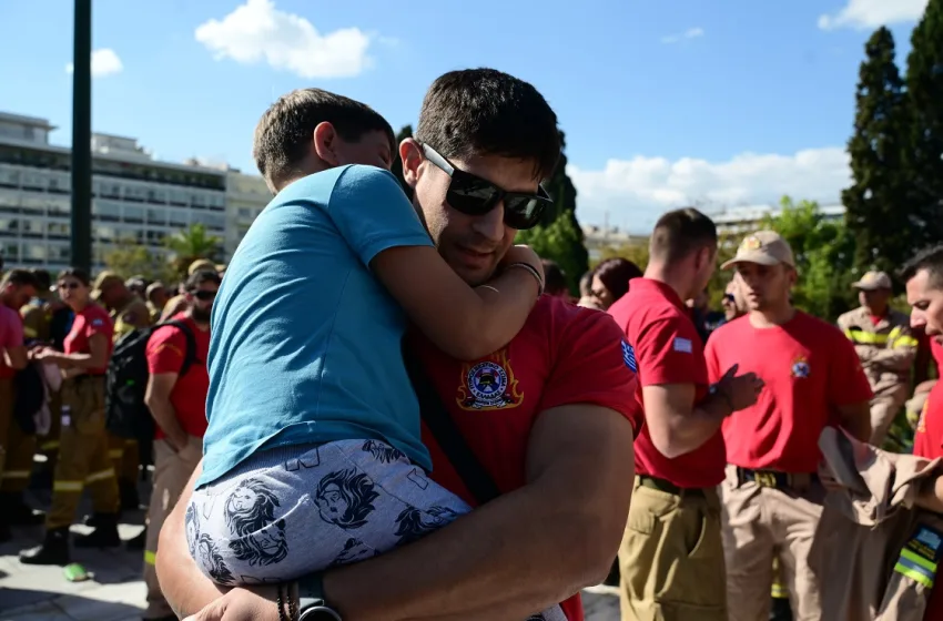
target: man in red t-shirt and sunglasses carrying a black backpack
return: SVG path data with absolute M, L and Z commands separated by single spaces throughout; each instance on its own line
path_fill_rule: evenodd
M 154 559 L 164 519 L 203 455 L 206 394 L 210 389 L 206 373 L 210 313 L 220 282 L 216 272 L 192 274 L 186 281 L 186 309 L 170 319 L 184 327 L 159 327 L 148 340 L 150 377 L 145 401 L 156 423 L 154 481 L 144 549 L 144 582 L 148 587 L 144 619 L 148 620 L 176 619 L 161 594 Z

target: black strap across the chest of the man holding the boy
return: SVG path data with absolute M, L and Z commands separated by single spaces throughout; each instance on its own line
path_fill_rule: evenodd
M 403 362 L 406 364 L 406 373 L 413 383 L 413 389 L 419 400 L 419 413 L 423 421 L 435 437 L 443 452 L 445 452 L 455 471 L 462 477 L 465 487 L 475 497 L 479 505 L 494 500 L 500 496 L 498 486 L 478 461 L 468 442 L 436 391 L 435 385 L 426 373 L 419 357 L 403 344 Z

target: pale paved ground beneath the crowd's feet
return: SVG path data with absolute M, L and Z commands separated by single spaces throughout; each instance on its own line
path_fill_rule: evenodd
M 36 506 L 43 498 L 34 497 Z M 143 512 L 123 518 L 122 539 L 143 528 Z M 72 527 L 74 532 L 85 527 Z M 22 548 L 42 537 L 40 528 L 18 529 L 14 540 L 0 546 L 0 621 L 130 621 L 140 619 L 144 607 L 141 580 L 142 553 L 124 549 L 73 550 L 72 560 L 94 573 L 92 580 L 72 583 L 60 567 L 24 566 L 17 559 Z M 618 621 L 619 602 L 610 590 L 592 589 L 585 595 L 587 621 Z

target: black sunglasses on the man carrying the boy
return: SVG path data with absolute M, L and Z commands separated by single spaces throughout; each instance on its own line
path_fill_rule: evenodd
M 537 226 L 544 210 L 554 203 L 543 186 L 537 186 L 537 194 L 507 192 L 490 181 L 456 169 L 428 144 L 423 145 L 423 153 L 429 162 L 452 177 L 446 201 L 454 210 L 465 215 L 485 215 L 498 203 L 504 203 L 505 224 L 518 231 L 526 231 Z

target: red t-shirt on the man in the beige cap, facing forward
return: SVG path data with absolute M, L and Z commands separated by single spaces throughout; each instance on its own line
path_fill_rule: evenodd
M 744 316 L 721 326 L 707 346 L 711 380 L 733 364 L 765 384 L 757 404 L 723 423 L 727 460 L 741 468 L 815 472 L 819 436 L 838 426 L 838 409 L 872 397 L 854 346 L 836 327 L 801 310 L 759 329 Z

